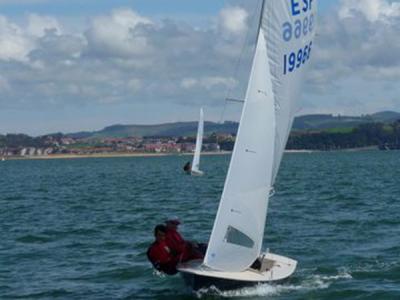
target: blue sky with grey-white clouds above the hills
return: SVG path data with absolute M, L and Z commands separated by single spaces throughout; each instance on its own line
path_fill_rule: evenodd
M 0 0 L 0 134 L 238 120 L 259 3 Z M 400 111 L 400 1 L 319 10 L 298 114 Z

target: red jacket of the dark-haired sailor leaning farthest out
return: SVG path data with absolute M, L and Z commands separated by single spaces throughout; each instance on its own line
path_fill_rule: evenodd
M 171 249 L 166 241 L 154 242 L 147 250 L 147 257 L 154 268 L 169 275 L 174 275 L 178 271 L 176 265 L 178 257 L 172 255 Z

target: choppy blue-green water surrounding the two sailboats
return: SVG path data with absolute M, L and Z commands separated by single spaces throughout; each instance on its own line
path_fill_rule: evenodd
M 1 299 L 400 299 L 400 152 L 285 156 L 265 245 L 299 261 L 280 285 L 214 296 L 155 274 L 168 215 L 207 240 L 228 156 L 0 162 Z

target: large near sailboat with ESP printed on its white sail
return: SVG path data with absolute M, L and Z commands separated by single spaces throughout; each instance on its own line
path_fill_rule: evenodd
M 263 0 L 253 64 L 204 260 L 178 266 L 195 290 L 234 289 L 291 276 L 297 261 L 263 252 L 269 198 L 311 57 L 317 0 Z

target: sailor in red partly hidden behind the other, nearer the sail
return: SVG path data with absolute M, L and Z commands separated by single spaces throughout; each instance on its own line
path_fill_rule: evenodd
M 204 257 L 205 248 L 201 247 L 196 242 L 185 241 L 182 235 L 178 232 L 178 226 L 181 224 L 177 217 L 169 218 L 165 221 L 166 243 L 173 253 L 180 257 L 181 262 L 186 262 L 193 259 L 201 259 Z

